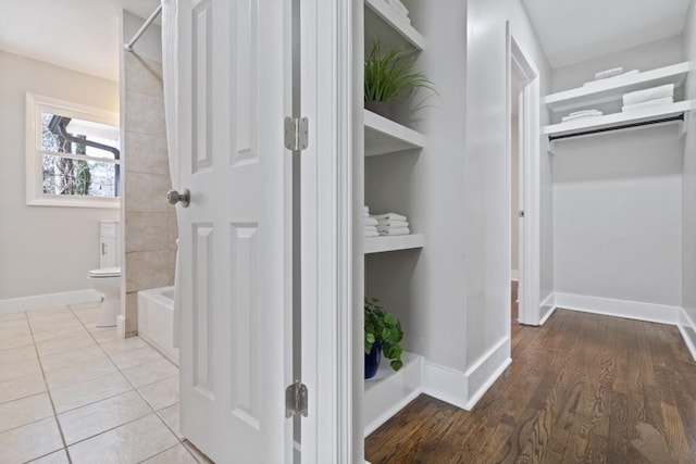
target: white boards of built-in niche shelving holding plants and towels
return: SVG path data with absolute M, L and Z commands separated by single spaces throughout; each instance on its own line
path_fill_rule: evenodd
M 380 41 L 383 50 L 405 47 L 421 51 L 425 48 L 423 36 L 385 0 L 364 1 L 365 49 L 372 48 L 373 39 Z M 364 110 L 364 156 L 400 153 L 425 147 L 425 136 L 389 118 Z M 390 162 L 390 160 L 389 160 Z M 395 155 L 394 162 L 399 162 Z M 370 168 L 370 166 L 366 166 Z M 368 199 L 369 200 L 369 199 Z M 369 201 L 368 201 L 368 204 Z M 400 212 L 408 215 L 408 211 Z M 411 228 L 413 225 L 411 225 Z M 380 236 L 364 238 L 364 253 L 377 254 L 423 248 L 423 234 L 403 236 Z M 370 264 L 377 264 L 371 262 Z M 376 291 L 378 297 L 378 289 Z M 408 334 L 406 334 L 408 337 Z M 398 372 L 391 369 L 388 360 L 381 363 L 377 375 L 364 383 L 363 424 L 365 435 L 372 432 L 421 392 L 421 365 L 423 359 L 411 353 L 401 356 L 403 366 Z

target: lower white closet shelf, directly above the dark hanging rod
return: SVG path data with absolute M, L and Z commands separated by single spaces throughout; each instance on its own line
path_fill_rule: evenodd
M 658 121 L 693 110 L 694 105 L 691 101 L 679 101 L 672 104 L 659 105 L 641 111 L 631 111 L 627 113 L 613 113 L 599 117 L 589 117 L 586 120 L 576 120 L 568 123 L 551 124 L 545 126 L 543 134 L 548 136 L 561 136 L 585 130 L 595 130 L 622 126 L 625 124 L 645 123 Z

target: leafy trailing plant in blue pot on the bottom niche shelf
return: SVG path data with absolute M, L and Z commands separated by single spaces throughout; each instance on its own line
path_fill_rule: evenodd
M 381 354 L 391 360 L 391 368 L 398 371 L 401 361 L 403 331 L 391 314 L 386 312 L 376 298 L 365 297 L 365 378 L 372 378 L 380 367 Z

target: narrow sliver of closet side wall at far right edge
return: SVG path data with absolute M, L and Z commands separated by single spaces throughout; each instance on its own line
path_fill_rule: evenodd
M 696 99 L 696 3 L 692 2 L 684 32 L 684 52 L 692 63 L 692 73 L 686 83 L 686 97 Z M 684 172 L 682 184 L 683 229 L 682 229 L 682 304 L 693 323 L 696 323 L 696 114 L 688 120 L 688 133 L 684 147 Z M 696 334 L 692 327 L 692 341 Z

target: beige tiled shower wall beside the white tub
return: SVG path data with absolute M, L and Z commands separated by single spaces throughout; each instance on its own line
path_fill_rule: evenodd
M 174 285 L 176 211 L 171 188 L 164 123 L 162 64 L 124 54 L 124 242 L 126 337 L 137 333 L 138 290 Z

